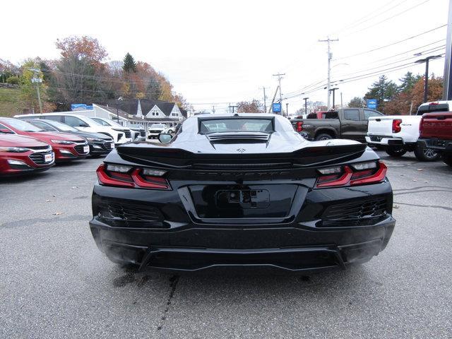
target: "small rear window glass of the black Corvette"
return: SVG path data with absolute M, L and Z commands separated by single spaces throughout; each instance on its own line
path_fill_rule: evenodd
M 273 119 L 206 119 L 201 120 L 199 133 L 272 132 Z

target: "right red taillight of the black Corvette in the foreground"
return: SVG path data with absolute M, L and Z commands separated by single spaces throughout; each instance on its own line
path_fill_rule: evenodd
M 362 162 L 351 166 L 319 169 L 316 188 L 376 184 L 386 177 L 383 162 Z

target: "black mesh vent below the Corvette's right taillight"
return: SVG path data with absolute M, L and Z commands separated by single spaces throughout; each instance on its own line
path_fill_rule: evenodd
M 387 209 L 388 201 L 386 198 L 329 206 L 323 212 L 320 226 L 347 227 L 372 225 L 386 216 Z

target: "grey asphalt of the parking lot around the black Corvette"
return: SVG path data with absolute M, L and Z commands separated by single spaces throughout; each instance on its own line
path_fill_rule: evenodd
M 451 338 L 452 168 L 379 152 L 397 220 L 369 263 L 300 275 L 136 273 L 88 228 L 102 159 L 0 181 L 1 338 Z

